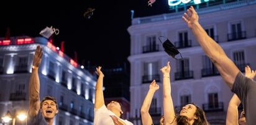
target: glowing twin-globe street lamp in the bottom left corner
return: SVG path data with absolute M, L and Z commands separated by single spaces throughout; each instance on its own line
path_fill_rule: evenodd
M 7 111 L 7 113 L 2 116 L 2 121 L 4 121 L 4 123 L 9 123 L 12 120 L 12 125 L 15 125 L 16 123 L 16 117 L 20 120 L 20 121 L 24 121 L 27 118 L 27 114 L 24 112 L 19 112 L 14 113 L 14 116 L 11 115 L 10 111 Z

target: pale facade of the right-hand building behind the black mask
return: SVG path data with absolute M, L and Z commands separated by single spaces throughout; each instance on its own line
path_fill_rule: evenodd
M 160 68 L 168 61 L 176 112 L 193 102 L 203 108 L 209 123 L 225 124 L 232 92 L 181 19 L 191 5 L 189 2 L 175 6 L 169 14 L 134 18 L 127 28 L 130 33 L 130 121 L 135 125 L 141 124 L 140 107 L 153 79 L 160 88 L 152 100 L 150 114 L 153 123 L 159 124 L 163 115 Z M 240 71 L 244 72 L 247 65 L 256 69 L 256 1 L 208 1 L 193 6 L 200 24 Z M 165 53 L 160 42 L 163 37 L 178 48 L 178 56 L 183 59 L 174 59 Z

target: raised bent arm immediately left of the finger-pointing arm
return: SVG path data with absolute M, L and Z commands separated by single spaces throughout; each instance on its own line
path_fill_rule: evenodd
M 153 95 L 158 90 L 158 88 L 159 88 L 159 85 L 157 84 L 157 82 L 155 82 L 155 80 L 153 80 L 151 82 L 151 84 L 149 85 L 149 91 L 147 92 L 147 95 L 143 101 L 141 108 L 140 108 L 142 124 L 144 124 L 144 125 L 152 125 L 153 124 L 153 120 L 149 114 L 149 108 L 150 108 L 150 105 L 151 105 L 151 102 L 153 99 Z

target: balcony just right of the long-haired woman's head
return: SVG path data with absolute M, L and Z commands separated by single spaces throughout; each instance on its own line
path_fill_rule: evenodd
M 203 104 L 203 110 L 205 112 L 210 112 L 210 111 L 224 111 L 223 108 L 223 102 L 219 102 L 219 103 L 207 103 L 207 104 Z

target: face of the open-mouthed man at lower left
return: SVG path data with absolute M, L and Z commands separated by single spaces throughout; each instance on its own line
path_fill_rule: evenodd
M 58 113 L 56 104 L 52 100 L 45 100 L 42 103 L 41 113 L 45 118 L 54 118 L 55 114 Z

